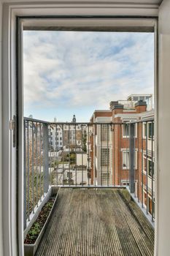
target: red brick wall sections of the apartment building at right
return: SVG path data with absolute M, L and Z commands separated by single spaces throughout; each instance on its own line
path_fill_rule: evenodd
M 136 104 L 134 109 L 126 110 L 123 108 L 123 105 L 119 105 L 117 102 L 112 102 L 111 110 L 101 111 L 96 110 L 93 113 L 93 117 L 90 119 L 90 122 L 95 123 L 96 118 L 106 118 L 108 117 L 108 123 L 112 121 L 112 173 L 111 173 L 111 181 L 110 184 L 114 186 L 123 186 L 128 185 L 129 183 L 129 138 L 128 136 L 123 136 L 123 129 L 125 124 L 124 121 L 131 121 L 131 119 L 135 121 L 139 121 L 141 113 L 147 113 L 147 105 L 145 102 L 139 102 L 140 104 Z M 110 118 L 110 119 L 109 119 Z M 109 121 L 110 120 L 110 121 Z M 101 121 L 102 122 L 102 121 Z M 105 121 L 106 122 L 106 121 Z M 134 138 L 134 148 L 135 148 L 135 170 L 134 170 L 134 182 L 135 182 L 135 195 L 139 198 L 140 202 L 143 202 L 148 206 L 148 211 L 152 212 L 152 201 L 150 203 L 150 189 L 147 189 L 147 200 L 145 199 L 146 195 L 144 195 L 144 189 L 147 188 L 147 176 L 144 170 L 144 154 L 146 154 L 146 138 L 144 138 L 143 132 L 144 127 L 142 122 L 136 123 L 136 138 Z M 97 130 L 95 130 L 95 135 L 97 135 Z M 94 136 L 90 138 L 91 143 L 91 184 L 94 184 L 94 168 L 96 168 L 96 164 L 94 164 L 94 159 L 96 156 L 96 143 L 94 146 Z M 124 156 L 124 158 L 123 158 Z M 125 161 L 123 166 L 123 159 Z M 142 170 L 143 169 L 143 170 Z M 96 170 L 96 178 L 98 176 L 98 170 Z

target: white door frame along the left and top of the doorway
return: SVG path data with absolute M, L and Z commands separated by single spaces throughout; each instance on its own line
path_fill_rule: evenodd
M 17 37 L 22 42 L 22 28 L 25 26 L 55 26 L 54 20 L 30 20 L 29 17 L 50 15 L 98 15 L 98 20 L 85 18 L 81 22 L 86 26 L 101 26 L 102 22 L 108 26 L 115 26 L 115 30 L 131 27 L 149 28 L 152 27 L 157 31 L 158 7 L 156 5 L 144 4 L 108 4 L 101 1 L 96 4 L 87 2 L 68 4 L 57 4 L 47 2 L 4 4 L 3 8 L 3 64 L 2 64 L 2 81 L 3 81 L 3 239 L 4 255 L 15 256 L 23 255 L 23 82 L 22 82 L 22 48 L 16 52 Z M 105 18 L 101 18 L 105 15 Z M 109 16 L 109 20 L 106 16 Z M 18 16 L 26 17 L 19 21 L 18 36 L 16 35 L 16 19 Z M 111 18 L 112 16 L 112 18 Z M 150 16 L 150 18 L 148 18 Z M 69 20 L 60 20 L 63 26 L 69 26 Z M 72 20 L 71 20 L 72 21 Z M 77 20 L 74 20 L 77 26 Z M 87 23 L 88 21 L 88 23 Z M 58 20 L 59 22 L 59 20 Z M 72 24 L 73 26 L 73 24 Z M 20 47 L 22 43 L 19 42 Z M 17 59 L 18 67 L 17 67 Z M 155 64 L 157 68 L 157 65 Z M 19 75 L 16 77 L 17 69 Z M 155 84 L 157 79 L 155 77 Z M 16 94 L 18 89 L 18 94 Z M 157 98 L 157 86 L 155 86 L 155 96 Z M 15 101 L 18 98 L 19 106 Z M 18 136 L 18 153 L 16 148 L 12 147 L 12 131 L 9 131 L 9 121 L 13 115 L 18 114 L 19 136 Z M 155 116 L 157 120 L 157 116 Z M 155 143 L 155 152 L 157 143 Z M 17 157 L 17 154 L 19 158 Z M 18 160 L 18 170 L 16 168 Z M 155 168 L 156 170 L 156 168 Z M 18 197 L 17 197 L 18 193 Z M 18 217 L 17 217 L 18 216 Z

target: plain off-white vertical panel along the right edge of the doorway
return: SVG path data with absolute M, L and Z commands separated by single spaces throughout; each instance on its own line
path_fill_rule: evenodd
M 170 1 L 159 12 L 157 253 L 170 255 Z

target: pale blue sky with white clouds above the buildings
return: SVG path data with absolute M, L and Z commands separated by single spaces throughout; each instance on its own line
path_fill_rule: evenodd
M 24 31 L 24 116 L 89 121 L 129 94 L 153 93 L 151 33 Z

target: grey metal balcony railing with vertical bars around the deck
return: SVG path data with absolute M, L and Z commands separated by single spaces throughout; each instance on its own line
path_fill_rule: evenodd
M 24 118 L 24 223 L 55 187 L 128 187 L 154 221 L 154 121 Z

